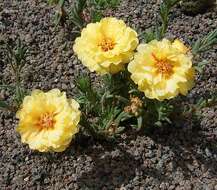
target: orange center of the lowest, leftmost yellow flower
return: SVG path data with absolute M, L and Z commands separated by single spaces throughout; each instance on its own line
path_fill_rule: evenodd
M 54 127 L 56 121 L 53 113 L 45 113 L 39 117 L 37 126 L 42 129 L 51 129 Z

